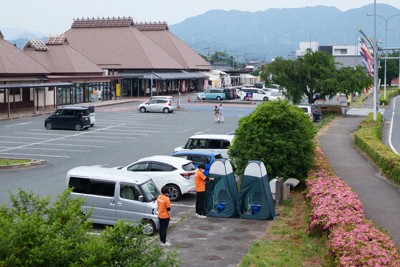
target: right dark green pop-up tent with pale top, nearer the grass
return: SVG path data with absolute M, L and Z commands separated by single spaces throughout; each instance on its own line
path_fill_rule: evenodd
M 247 163 L 239 191 L 237 212 L 245 219 L 274 219 L 275 204 L 264 163 L 260 161 Z

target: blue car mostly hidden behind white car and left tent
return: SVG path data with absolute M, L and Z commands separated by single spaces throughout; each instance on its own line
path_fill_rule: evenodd
M 208 173 L 210 172 L 211 164 L 216 159 L 222 159 L 222 155 L 219 152 L 214 151 L 198 151 L 198 150 L 186 150 L 186 151 L 177 151 L 171 156 L 179 157 L 183 159 L 188 159 L 193 162 L 196 168 L 199 167 L 199 164 L 204 164 L 206 166 L 204 170 L 204 175 L 208 177 Z

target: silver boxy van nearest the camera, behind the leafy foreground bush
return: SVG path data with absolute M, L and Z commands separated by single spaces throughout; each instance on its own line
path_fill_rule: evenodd
M 142 222 L 146 234 L 159 229 L 156 200 L 160 192 L 144 174 L 82 166 L 68 172 L 66 186 L 72 188 L 71 197 L 86 199 L 81 210 L 85 214 L 92 211 L 94 223 Z

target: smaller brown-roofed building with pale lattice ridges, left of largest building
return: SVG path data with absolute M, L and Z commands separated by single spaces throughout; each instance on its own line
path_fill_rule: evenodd
M 23 50 L 49 70 L 50 81 L 72 83 L 57 89 L 57 105 L 91 102 L 97 100 L 97 92 L 102 100 L 112 98 L 117 77 L 103 75 L 100 67 L 69 45 L 65 35 L 48 37 L 46 43 L 31 39 Z

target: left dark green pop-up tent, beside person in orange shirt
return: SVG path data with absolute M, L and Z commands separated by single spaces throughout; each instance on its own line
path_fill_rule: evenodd
M 209 177 L 214 181 L 206 184 L 206 213 L 210 217 L 237 217 L 238 189 L 232 164 L 227 159 L 218 159 L 210 167 Z

